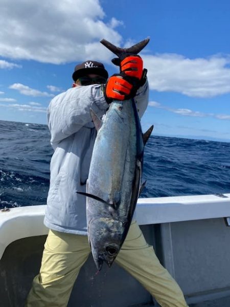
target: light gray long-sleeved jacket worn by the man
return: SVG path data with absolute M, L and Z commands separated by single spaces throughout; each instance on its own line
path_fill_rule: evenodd
M 148 82 L 136 93 L 140 117 L 148 105 Z M 48 107 L 48 125 L 54 154 L 44 224 L 50 229 L 87 234 L 86 180 L 97 131 L 89 108 L 98 117 L 106 113 L 102 86 L 77 86 L 54 97 Z

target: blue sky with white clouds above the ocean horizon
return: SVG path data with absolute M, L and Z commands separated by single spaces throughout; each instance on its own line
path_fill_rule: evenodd
M 129 47 L 150 37 L 143 130 L 230 141 L 229 1 L 2 0 L 0 8 L 0 120 L 45 124 L 77 63 L 100 60 L 117 72 L 102 38 Z

